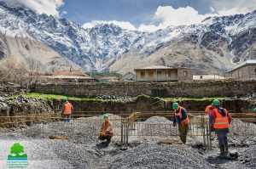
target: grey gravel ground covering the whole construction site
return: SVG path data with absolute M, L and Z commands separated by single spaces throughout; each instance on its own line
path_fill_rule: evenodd
M 0 133 L 0 168 L 6 168 L 7 156 L 10 148 L 15 143 L 20 143 L 28 155 L 29 166 L 27 168 L 256 168 L 256 138 L 252 134 L 255 126 L 247 126 L 247 123 L 236 120 L 232 122 L 231 133 L 237 134 L 246 132 L 247 137 L 229 137 L 230 150 L 238 151 L 240 157 L 237 161 L 228 161 L 218 158 L 218 147 L 212 149 L 204 147 L 194 148 L 191 145 L 201 141 L 200 137 L 188 137 L 187 144 L 156 144 L 158 136 L 129 136 L 129 147 L 127 150 L 120 149 L 120 119 L 118 115 L 110 115 L 113 120 L 114 131 L 109 146 L 102 144 L 97 139 L 102 124 L 102 116 L 81 118 L 81 121 L 64 123 L 62 121 L 50 122 L 44 125 L 44 132 L 61 133 L 61 136 L 68 136 L 71 142 L 66 140 L 49 139 L 48 135 L 39 133 L 43 125 L 28 127 L 24 134 Z M 172 121 L 164 117 L 154 116 L 142 124 L 168 124 Z M 144 128 L 143 128 L 144 127 Z M 142 126 L 139 132 L 148 130 Z M 199 127 L 201 128 L 201 127 Z M 161 126 L 150 128 L 150 131 L 157 133 L 162 130 Z M 175 127 L 166 127 L 167 132 L 176 132 Z M 33 133 L 32 133 L 33 131 Z M 34 133 L 38 131 L 38 133 Z M 83 132 L 90 132 L 91 136 L 84 137 Z M 77 136 L 70 136 L 73 132 Z M 134 132 L 131 130 L 130 133 Z M 191 131 L 189 131 L 191 132 Z M 163 138 L 163 137 L 161 137 Z M 164 137 L 177 138 L 177 137 Z M 212 132 L 212 143 L 217 144 L 218 140 Z

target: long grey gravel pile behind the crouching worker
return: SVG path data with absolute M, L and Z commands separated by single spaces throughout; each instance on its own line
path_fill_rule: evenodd
M 119 115 L 109 115 L 113 121 L 115 136 L 113 140 L 119 140 L 121 130 L 121 117 Z M 32 138 L 48 138 L 50 134 L 70 138 L 75 144 L 90 144 L 98 141 L 98 132 L 102 127 L 102 116 L 81 117 L 70 122 L 55 121 L 43 125 L 35 124 L 26 127 L 26 136 Z M 46 132 L 43 135 L 42 132 Z

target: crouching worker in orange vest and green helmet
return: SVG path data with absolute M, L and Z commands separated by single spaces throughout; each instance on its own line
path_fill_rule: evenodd
M 110 144 L 111 138 L 113 137 L 113 123 L 109 121 L 108 115 L 103 115 L 104 121 L 102 122 L 102 129 L 100 132 L 99 139 L 107 139 L 106 144 Z

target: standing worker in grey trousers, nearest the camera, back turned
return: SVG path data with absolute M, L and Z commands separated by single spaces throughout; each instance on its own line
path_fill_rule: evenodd
M 230 132 L 229 127 L 232 118 L 227 110 L 219 106 L 218 99 L 214 99 L 212 104 L 215 108 L 210 115 L 210 124 L 218 137 L 220 156 L 226 156 L 229 155 L 227 133 Z

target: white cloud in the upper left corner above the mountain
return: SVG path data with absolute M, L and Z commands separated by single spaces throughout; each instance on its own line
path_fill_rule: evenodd
M 31 8 L 38 14 L 51 14 L 55 17 L 60 17 L 57 8 L 64 5 L 63 0 L 2 0 L 8 4 L 20 4 L 27 8 Z M 65 14 L 65 11 L 62 12 Z

